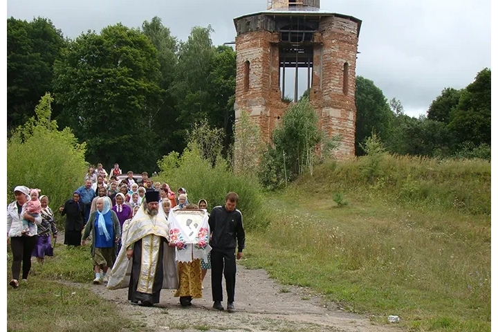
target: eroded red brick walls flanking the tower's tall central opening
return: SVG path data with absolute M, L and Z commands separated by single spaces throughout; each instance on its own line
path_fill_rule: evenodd
M 277 1 L 275 1 L 277 4 Z M 263 21 L 264 15 L 255 18 Z M 268 18 L 266 18 L 268 19 Z M 270 26 L 270 25 L 268 25 Z M 360 21 L 344 15 L 323 15 L 313 35 L 313 78 L 310 100 L 317 111 L 320 129 L 329 137 L 342 135 L 335 153 L 343 160 L 355 154 L 356 54 Z M 246 111 L 260 128 L 261 140 L 270 142 L 271 133 L 288 104 L 279 88 L 279 33 L 257 28 L 236 38 L 237 84 L 235 98 L 235 139 L 237 119 Z M 249 62 L 247 84 L 246 62 Z M 347 64 L 346 66 L 344 64 Z M 347 80 L 344 80 L 344 69 Z M 344 84 L 347 84 L 345 89 Z M 237 151 L 235 151 L 237 163 Z

